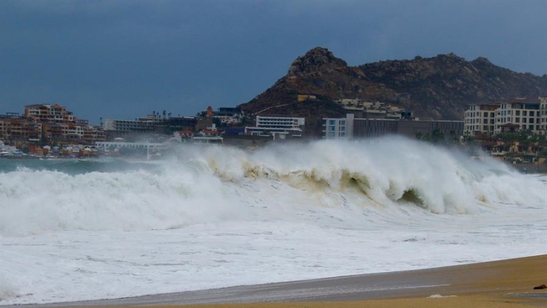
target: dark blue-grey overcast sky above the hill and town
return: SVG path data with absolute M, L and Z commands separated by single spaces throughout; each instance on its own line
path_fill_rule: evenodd
M 547 1 L 0 0 L 0 114 L 193 116 L 253 99 L 311 48 L 349 65 L 454 52 L 547 74 Z

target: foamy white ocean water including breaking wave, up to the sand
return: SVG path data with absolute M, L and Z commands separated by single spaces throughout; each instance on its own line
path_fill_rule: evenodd
M 0 305 L 547 254 L 546 181 L 403 138 L 0 159 Z

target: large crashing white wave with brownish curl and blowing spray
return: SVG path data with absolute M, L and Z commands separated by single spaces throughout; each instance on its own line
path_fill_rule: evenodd
M 153 168 L 3 172 L 0 234 L 299 219 L 295 213 L 303 208 L 344 211 L 348 204 L 353 210 L 421 207 L 475 214 L 484 204 L 547 202 L 537 178 L 404 138 L 318 141 L 254 152 L 190 146 L 177 156 Z

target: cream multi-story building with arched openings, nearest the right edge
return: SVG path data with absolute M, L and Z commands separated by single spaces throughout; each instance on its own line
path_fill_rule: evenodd
M 530 130 L 538 134 L 541 131 L 539 105 L 537 97 L 502 101 L 496 110 L 494 133 L 504 132 L 504 127 L 511 124 L 518 125 L 517 130 Z

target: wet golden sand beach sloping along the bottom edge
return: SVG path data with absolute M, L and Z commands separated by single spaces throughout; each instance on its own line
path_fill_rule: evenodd
M 547 289 L 534 290 L 533 287 L 544 284 L 547 285 L 547 255 L 416 271 L 30 307 L 537 307 L 547 306 Z

